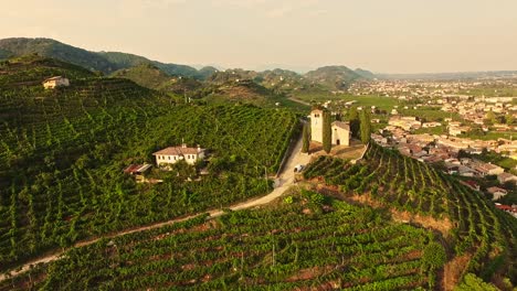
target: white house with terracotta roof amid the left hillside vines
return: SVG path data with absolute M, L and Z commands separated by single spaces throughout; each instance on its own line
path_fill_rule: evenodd
M 188 164 L 194 164 L 198 160 L 204 159 L 204 149 L 188 148 L 186 143 L 181 147 L 169 147 L 163 150 L 152 153 L 156 157 L 156 164 L 158 166 L 175 164 L 184 160 Z

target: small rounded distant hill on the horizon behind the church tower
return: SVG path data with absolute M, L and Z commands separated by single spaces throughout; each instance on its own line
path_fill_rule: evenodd
M 319 84 L 328 89 L 344 90 L 352 82 L 365 78 L 346 66 L 325 66 L 304 75 L 313 84 Z

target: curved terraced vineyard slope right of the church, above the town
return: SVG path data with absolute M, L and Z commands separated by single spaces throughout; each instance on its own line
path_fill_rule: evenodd
M 464 272 L 487 281 L 495 274 L 517 278 L 515 219 L 432 166 L 372 144 L 356 164 L 320 157 L 304 177 L 337 186 L 347 196 L 368 194 L 400 212 L 450 219 L 453 227 L 445 235 L 452 251 L 471 257 Z

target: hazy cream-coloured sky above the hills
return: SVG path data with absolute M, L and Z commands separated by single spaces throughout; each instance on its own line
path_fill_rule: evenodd
M 517 69 L 517 0 L 0 0 L 0 39 L 166 63 Z

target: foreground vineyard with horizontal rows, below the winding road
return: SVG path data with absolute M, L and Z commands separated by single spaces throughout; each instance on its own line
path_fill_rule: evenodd
M 199 216 L 72 249 L 0 290 L 434 288 L 439 266 L 428 258 L 444 254 L 434 235 L 384 215 L 293 192 L 266 208 Z

